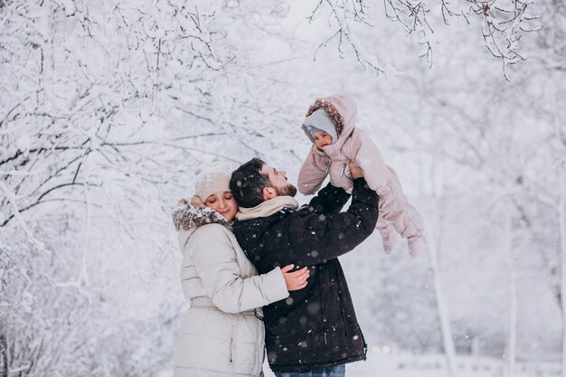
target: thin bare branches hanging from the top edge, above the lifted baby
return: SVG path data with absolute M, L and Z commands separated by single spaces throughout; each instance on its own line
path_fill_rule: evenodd
M 325 17 L 332 30 L 330 36 L 319 47 L 335 42 L 341 56 L 352 54 L 364 69 L 378 74 L 391 71 L 380 62 L 368 43 L 359 37 L 360 28 L 373 28 L 382 25 L 382 18 L 372 17 L 381 2 L 367 3 L 355 1 L 316 1 L 316 7 L 309 16 L 313 21 L 318 16 Z M 432 63 L 434 46 L 437 43 L 434 32 L 442 26 L 455 22 L 475 24 L 476 33 L 481 34 L 486 49 L 502 61 L 503 72 L 507 77 L 507 67 L 524 60 L 521 38 L 527 33 L 541 29 L 538 9 L 531 1 L 525 0 L 468 0 L 462 4 L 441 1 L 433 7 L 420 1 L 383 0 L 385 18 L 401 25 L 407 34 L 415 34 L 421 46 L 420 56 Z M 534 10 L 532 9 L 534 8 Z

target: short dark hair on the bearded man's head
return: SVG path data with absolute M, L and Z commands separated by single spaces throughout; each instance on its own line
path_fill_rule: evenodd
M 238 205 L 244 208 L 263 203 L 263 189 L 269 187 L 269 177 L 261 174 L 265 162 L 258 157 L 234 170 L 230 178 L 230 191 Z

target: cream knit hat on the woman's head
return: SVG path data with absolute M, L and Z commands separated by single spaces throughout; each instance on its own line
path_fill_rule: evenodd
M 231 166 L 224 163 L 199 165 L 194 171 L 194 196 L 203 203 L 212 193 L 230 191 Z

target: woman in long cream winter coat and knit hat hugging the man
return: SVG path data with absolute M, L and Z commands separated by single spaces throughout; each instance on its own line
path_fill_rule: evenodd
M 307 286 L 307 268 L 257 275 L 229 229 L 238 212 L 229 181 L 227 166 L 200 169 L 191 203 L 183 200 L 174 212 L 183 291 L 192 302 L 176 344 L 175 377 L 262 375 L 264 328 L 256 308 Z

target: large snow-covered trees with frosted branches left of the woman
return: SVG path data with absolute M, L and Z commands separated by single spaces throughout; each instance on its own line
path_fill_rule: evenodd
M 223 147 L 232 129 L 245 136 L 280 106 L 242 106 L 254 76 L 234 55 L 241 12 L 174 1 L 2 9 L 4 375 L 155 374 L 171 362 L 182 296 L 170 206 L 191 194 L 194 165 L 238 161 Z

